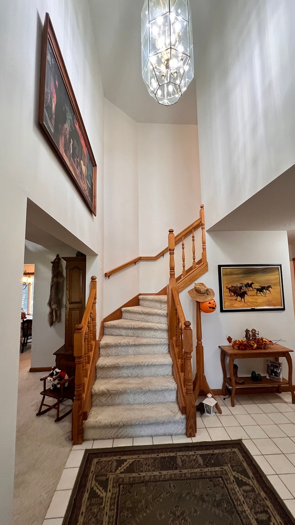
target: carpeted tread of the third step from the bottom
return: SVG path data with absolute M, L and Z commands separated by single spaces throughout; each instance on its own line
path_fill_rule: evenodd
M 139 366 L 139 365 L 161 365 L 172 364 L 169 353 L 154 355 L 110 355 L 101 356 L 96 364 L 97 369 L 122 366 Z

